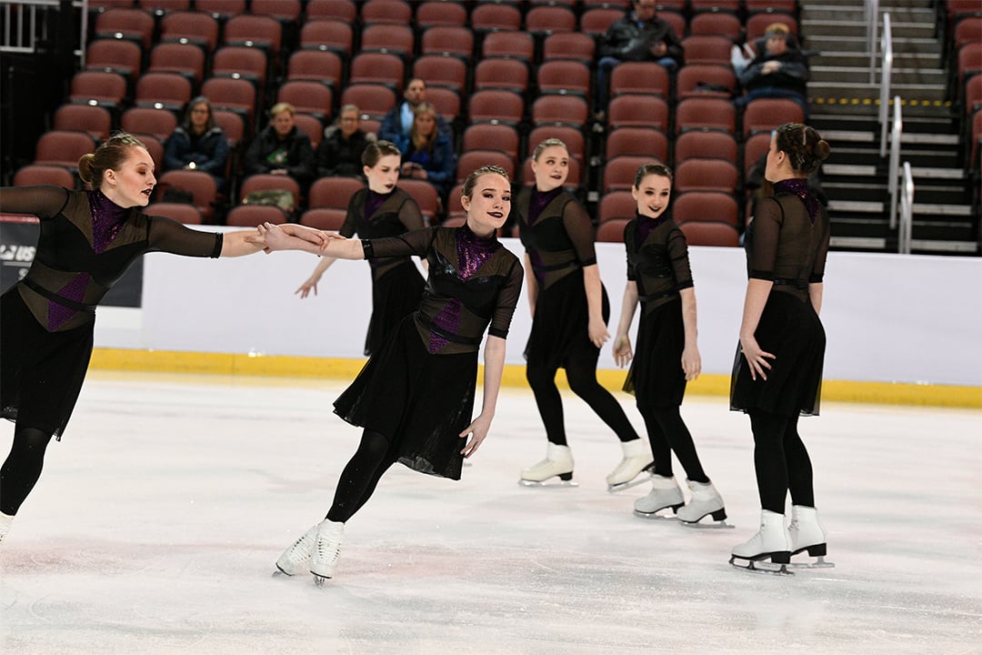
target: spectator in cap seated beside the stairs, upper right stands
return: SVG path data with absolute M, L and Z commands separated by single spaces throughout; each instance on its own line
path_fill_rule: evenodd
M 808 59 L 796 41 L 789 40 L 789 32 L 783 23 L 767 27 L 763 49 L 737 77 L 744 90 L 744 95 L 736 98 L 737 107 L 745 107 L 756 98 L 789 98 L 801 106 L 807 118 Z

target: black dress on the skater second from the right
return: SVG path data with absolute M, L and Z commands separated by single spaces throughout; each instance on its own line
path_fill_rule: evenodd
M 665 212 L 658 218 L 635 215 L 624 231 L 627 280 L 637 283 L 641 303 L 634 358 L 624 390 L 638 407 L 682 405 L 685 326 L 679 292 L 692 285 L 685 235 Z

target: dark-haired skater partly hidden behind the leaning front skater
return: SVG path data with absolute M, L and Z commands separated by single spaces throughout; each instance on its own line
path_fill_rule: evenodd
M 361 154 L 362 171 L 368 187 L 355 192 L 348 204 L 348 215 L 339 230 L 345 238 L 395 237 L 423 227 L 419 205 L 406 191 L 396 187 L 401 160 L 399 148 L 390 141 L 369 143 Z M 335 257 L 321 257 L 313 273 L 296 293 L 306 298 L 317 294 L 320 282 Z M 374 355 L 403 317 L 419 308 L 423 277 L 407 257 L 369 259 L 372 281 L 372 312 L 365 336 L 365 355 Z

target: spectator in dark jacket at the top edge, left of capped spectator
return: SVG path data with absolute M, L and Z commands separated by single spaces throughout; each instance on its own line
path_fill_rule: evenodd
M 611 71 L 621 62 L 658 62 L 670 73 L 682 66 L 682 41 L 658 18 L 656 0 L 633 0 L 633 10 L 600 39 L 594 109 L 602 115 L 610 94 Z

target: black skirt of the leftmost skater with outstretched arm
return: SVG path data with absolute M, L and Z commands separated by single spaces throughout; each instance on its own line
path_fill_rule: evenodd
M 0 297 L 0 416 L 60 438 L 82 391 L 93 326 L 48 332 L 17 286 Z

